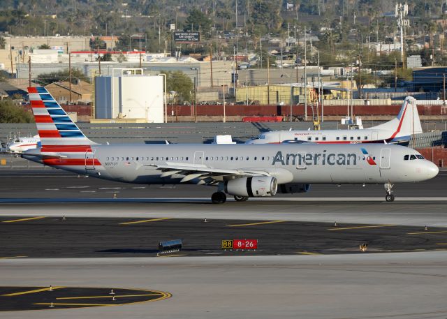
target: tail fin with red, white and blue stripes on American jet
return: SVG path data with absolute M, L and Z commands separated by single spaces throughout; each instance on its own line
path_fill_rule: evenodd
M 94 145 L 45 87 L 29 87 L 29 101 L 42 147 Z

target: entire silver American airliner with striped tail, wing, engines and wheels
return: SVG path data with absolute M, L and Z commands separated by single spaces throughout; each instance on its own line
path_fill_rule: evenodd
M 91 177 L 137 184 L 217 186 L 212 202 L 302 193 L 309 184 L 424 181 L 438 168 L 417 151 L 393 144 L 96 144 L 43 87 L 29 88 L 42 147 L 22 157 Z

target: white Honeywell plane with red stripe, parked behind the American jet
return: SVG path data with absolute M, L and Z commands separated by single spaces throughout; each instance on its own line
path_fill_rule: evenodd
M 405 98 L 397 117 L 371 128 L 360 130 L 270 131 L 248 140 L 246 144 L 305 141 L 318 144 L 383 143 L 408 145 L 411 135 L 423 133 L 416 99 Z

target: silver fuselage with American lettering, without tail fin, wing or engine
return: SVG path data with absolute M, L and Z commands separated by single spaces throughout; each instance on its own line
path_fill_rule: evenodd
M 414 160 L 409 160 L 411 154 Z M 138 184 L 177 184 L 184 177 L 181 170 L 161 177 L 156 165 L 265 172 L 278 184 L 404 183 L 438 173 L 437 166 L 417 151 L 393 144 L 111 144 L 60 155 L 64 158 L 22 156 L 92 177 Z

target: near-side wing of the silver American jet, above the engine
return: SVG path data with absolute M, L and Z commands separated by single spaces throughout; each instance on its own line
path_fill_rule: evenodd
M 184 165 L 184 163 L 170 163 L 164 165 L 151 164 L 147 166 L 155 167 L 161 171 L 161 177 L 172 177 L 173 175 L 184 175 L 180 182 L 193 181 L 196 184 L 216 184 L 223 180 L 223 177 L 251 177 L 251 176 L 270 176 L 268 172 L 262 170 L 228 170 L 221 168 L 209 168 L 206 165 Z

